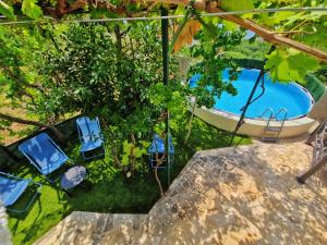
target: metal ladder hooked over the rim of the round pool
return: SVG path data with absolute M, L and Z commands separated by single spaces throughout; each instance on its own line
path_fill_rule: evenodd
M 264 128 L 264 136 L 262 137 L 262 140 L 277 143 L 284 121 L 287 120 L 288 110 L 286 108 L 281 108 L 276 114 L 274 114 L 274 110 L 271 108 L 267 108 L 259 118 L 263 119 L 267 113 L 269 114 L 269 119 Z M 278 115 L 281 117 L 281 120 L 278 119 Z

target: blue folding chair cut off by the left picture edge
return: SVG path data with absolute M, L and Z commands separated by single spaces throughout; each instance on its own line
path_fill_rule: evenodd
M 37 192 L 31 197 L 23 209 L 8 208 L 12 206 L 27 189 L 28 185 L 37 185 Z M 7 210 L 14 212 L 25 212 L 34 203 L 37 195 L 40 193 L 41 184 L 33 182 L 32 179 L 22 179 L 8 173 L 0 172 L 0 199 Z

